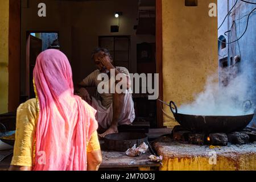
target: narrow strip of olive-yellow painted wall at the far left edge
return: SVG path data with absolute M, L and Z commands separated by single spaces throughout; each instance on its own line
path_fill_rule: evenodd
M 9 0 L 0 5 L 0 113 L 8 111 Z

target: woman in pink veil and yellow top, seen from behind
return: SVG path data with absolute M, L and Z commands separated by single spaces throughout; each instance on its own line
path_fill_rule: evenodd
M 73 94 L 72 70 L 64 53 L 40 53 L 34 87 L 36 98 L 17 110 L 10 169 L 97 170 L 102 158 L 96 110 Z

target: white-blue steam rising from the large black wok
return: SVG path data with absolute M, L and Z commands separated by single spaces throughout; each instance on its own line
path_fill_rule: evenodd
M 220 68 L 220 74 L 208 77 L 204 91 L 195 95 L 191 104 L 181 105 L 179 113 L 191 115 L 246 115 L 253 114 L 255 106 L 250 67 L 240 71 L 237 63 Z M 216 81 L 217 80 L 217 81 Z

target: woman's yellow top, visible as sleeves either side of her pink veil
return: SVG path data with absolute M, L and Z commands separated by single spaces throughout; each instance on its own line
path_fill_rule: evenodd
M 17 109 L 13 166 L 32 167 L 35 159 L 35 131 L 38 121 L 38 104 L 35 98 L 20 104 Z M 98 134 L 95 131 L 87 143 L 87 152 L 100 150 Z

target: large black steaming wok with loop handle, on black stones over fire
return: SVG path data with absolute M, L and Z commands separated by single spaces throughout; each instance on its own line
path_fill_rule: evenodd
M 174 107 L 172 107 L 172 105 Z M 243 130 L 253 119 L 254 114 L 237 116 L 188 115 L 177 112 L 173 101 L 170 109 L 176 121 L 193 133 L 230 133 Z

